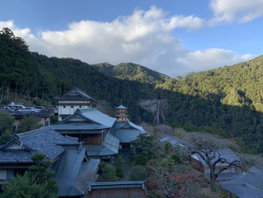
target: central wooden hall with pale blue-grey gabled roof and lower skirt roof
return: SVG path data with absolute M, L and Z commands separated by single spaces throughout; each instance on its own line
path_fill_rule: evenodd
M 52 127 L 62 135 L 76 137 L 83 142 L 90 158 L 111 161 L 119 147 L 119 139 L 111 134 L 115 120 L 97 108 L 77 109 L 73 115 Z

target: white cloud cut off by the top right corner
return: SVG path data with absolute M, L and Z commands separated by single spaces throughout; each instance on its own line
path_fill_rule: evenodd
M 263 15 L 263 0 L 211 0 L 214 18 L 209 22 L 248 22 Z

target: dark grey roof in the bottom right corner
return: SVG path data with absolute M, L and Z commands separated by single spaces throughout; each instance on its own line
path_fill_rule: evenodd
M 253 166 L 240 179 L 220 182 L 220 186 L 238 198 L 263 198 L 263 167 Z

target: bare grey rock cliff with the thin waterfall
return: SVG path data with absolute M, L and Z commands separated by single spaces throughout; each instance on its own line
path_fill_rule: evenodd
M 155 114 L 153 122 L 163 123 L 168 108 L 166 99 L 141 99 L 139 105 Z

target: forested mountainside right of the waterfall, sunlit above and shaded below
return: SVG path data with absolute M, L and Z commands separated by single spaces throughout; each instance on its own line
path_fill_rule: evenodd
M 159 88 L 172 93 L 167 121 L 173 126 L 239 138 L 263 152 L 263 56 Z

